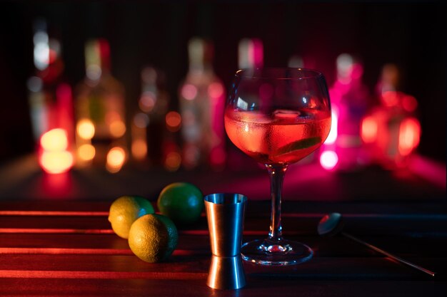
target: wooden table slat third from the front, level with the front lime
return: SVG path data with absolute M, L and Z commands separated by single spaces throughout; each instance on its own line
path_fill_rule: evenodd
M 243 241 L 250 241 L 262 236 L 244 236 Z M 289 239 L 302 241 L 314 249 L 318 256 L 381 256 L 365 246 L 346 239 L 343 236 L 331 238 L 319 238 L 316 236 L 291 236 Z M 445 239 L 443 237 L 390 237 L 390 236 L 361 236 L 371 244 L 391 251 L 400 256 L 444 256 Z M 126 239 L 121 239 L 115 234 L 1 234 L 0 254 L 46 254 L 51 251 L 70 253 L 83 253 L 83 250 L 91 250 L 92 254 L 122 254 L 128 250 Z M 50 251 L 45 251 L 49 249 Z M 81 250 L 81 251 L 77 251 Z M 96 251 L 98 250 L 98 251 Z M 198 254 L 211 253 L 209 236 L 196 234 L 181 234 L 177 250 L 184 253 Z

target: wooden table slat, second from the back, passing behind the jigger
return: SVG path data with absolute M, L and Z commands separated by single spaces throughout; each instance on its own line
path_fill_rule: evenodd
M 283 217 L 283 232 L 289 235 L 316 234 L 320 217 L 297 215 Z M 393 236 L 447 236 L 447 214 L 347 216 L 345 228 L 353 234 Z M 246 217 L 244 232 L 247 235 L 266 234 L 269 217 Z M 104 216 L 0 216 L 1 233 L 95 233 L 111 234 L 111 224 Z M 179 226 L 184 234 L 207 235 L 206 218 L 189 226 Z

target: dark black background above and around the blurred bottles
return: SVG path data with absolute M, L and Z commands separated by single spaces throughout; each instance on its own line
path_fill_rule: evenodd
M 0 165 L 32 152 L 26 80 L 34 74 L 32 23 L 49 22 L 59 36 L 65 76 L 84 78 L 84 43 L 105 37 L 111 44 L 113 75 L 126 87 L 128 113 L 140 93 L 147 64 L 165 71 L 171 108 L 188 69 L 192 36 L 214 42 L 214 69 L 228 86 L 237 69 L 238 41 L 261 38 L 264 65 L 286 66 L 293 54 L 311 57 L 331 85 L 335 59 L 352 53 L 363 61 L 371 93 L 384 63 L 403 71 L 401 89 L 419 103 L 419 152 L 446 158 L 446 6 L 443 4 L 323 4 L 292 1 L 38 2 L 0 4 Z

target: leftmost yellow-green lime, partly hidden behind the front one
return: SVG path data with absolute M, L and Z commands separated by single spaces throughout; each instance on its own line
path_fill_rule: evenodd
M 151 202 L 139 196 L 122 196 L 111 204 L 109 222 L 118 236 L 127 239 L 132 223 L 145 214 L 154 214 Z

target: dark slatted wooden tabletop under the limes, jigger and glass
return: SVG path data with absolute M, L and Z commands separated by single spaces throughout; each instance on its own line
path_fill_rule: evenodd
M 206 286 L 206 218 L 180 229 L 169 261 L 148 264 L 111 230 L 108 201 L 0 201 L 0 296 L 444 296 L 446 203 L 283 202 L 289 239 L 315 251 L 297 266 L 244 263 L 245 288 Z M 263 237 L 269 203 L 248 202 L 243 240 Z M 306 210 L 306 212 L 302 212 Z M 355 212 L 353 212 L 355 210 Z M 431 278 L 350 239 L 321 238 L 316 224 L 342 212 L 346 231 L 436 271 Z

